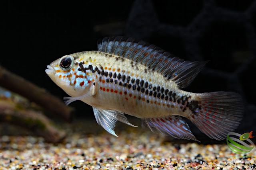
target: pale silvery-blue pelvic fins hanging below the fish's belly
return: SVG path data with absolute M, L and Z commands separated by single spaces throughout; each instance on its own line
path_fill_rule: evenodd
M 124 113 L 116 110 L 107 110 L 92 107 L 94 116 L 96 118 L 97 123 L 102 126 L 108 133 L 118 137 L 114 131 L 114 127 L 116 126 L 116 122 L 120 121 L 132 127 L 137 127 L 129 123 Z

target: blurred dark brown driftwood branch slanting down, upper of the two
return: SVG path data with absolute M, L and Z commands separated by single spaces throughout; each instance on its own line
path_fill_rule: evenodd
M 72 107 L 66 106 L 61 100 L 48 93 L 45 89 L 28 82 L 24 78 L 12 74 L 0 66 L 0 86 L 24 96 L 53 114 L 70 121 Z

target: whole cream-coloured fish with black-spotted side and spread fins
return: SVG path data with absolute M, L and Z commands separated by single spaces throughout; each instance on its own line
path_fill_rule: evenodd
M 125 114 L 143 128 L 178 139 L 198 141 L 184 118 L 211 139 L 223 140 L 243 117 L 242 97 L 234 92 L 186 92 L 208 61 L 184 61 L 150 43 L 105 37 L 97 51 L 65 55 L 46 73 L 70 97 L 92 106 L 96 121 L 110 134 Z M 219 82 L 221 83 L 221 82 Z

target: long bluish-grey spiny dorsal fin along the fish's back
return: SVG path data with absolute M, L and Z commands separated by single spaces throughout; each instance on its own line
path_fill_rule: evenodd
M 176 82 L 180 88 L 188 86 L 207 63 L 184 61 L 155 45 L 128 37 L 105 37 L 98 41 L 98 51 L 143 64 Z

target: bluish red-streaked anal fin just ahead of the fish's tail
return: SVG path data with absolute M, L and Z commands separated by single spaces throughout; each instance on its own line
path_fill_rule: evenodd
M 188 124 L 178 115 L 142 118 L 141 123 L 142 127 L 149 127 L 153 133 L 159 131 L 162 135 L 170 135 L 178 139 L 192 139 L 198 141 L 190 131 Z

